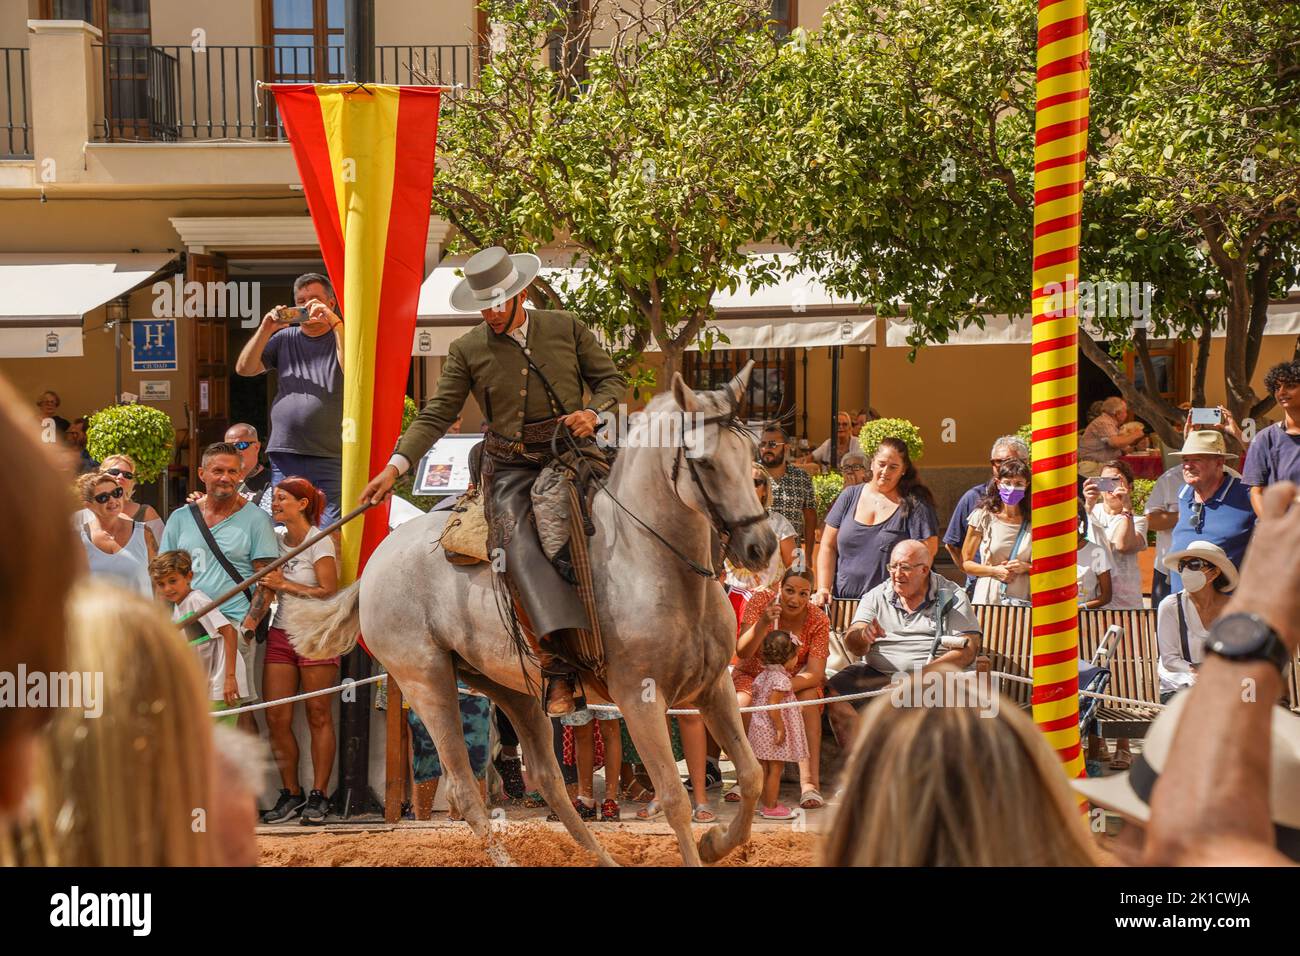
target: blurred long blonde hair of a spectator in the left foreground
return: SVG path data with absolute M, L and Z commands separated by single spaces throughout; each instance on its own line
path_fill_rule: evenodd
M 60 708 L 46 730 L 31 818 L 8 844 L 0 838 L 0 864 L 220 860 L 205 817 L 214 805 L 212 717 L 186 643 L 157 605 L 96 581 L 73 592 L 68 639 L 68 667 L 82 675 L 82 700 Z

